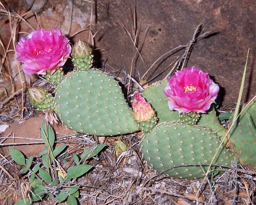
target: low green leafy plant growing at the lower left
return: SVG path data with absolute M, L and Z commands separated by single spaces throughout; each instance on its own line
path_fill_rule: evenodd
M 74 154 L 76 165 L 69 168 L 66 173 L 58 162 L 58 155 L 67 145 L 61 145 L 54 149 L 54 132 L 45 120 L 41 126 L 41 137 L 45 143 L 44 150 L 39 154 L 43 163 L 35 163 L 32 156 L 26 159 L 21 151 L 9 147 L 12 159 L 17 164 L 24 166 L 18 174 L 28 177 L 31 185 L 28 196 L 16 202 L 15 205 L 29 205 L 34 201 L 43 200 L 46 196 L 55 198 L 56 202 L 67 200 L 68 205 L 78 204 L 76 198 L 79 197 L 80 185 L 74 184 L 71 180 L 82 176 L 92 168 L 91 165 L 84 164 L 84 161 L 96 156 L 105 145 L 95 144 L 89 147 L 82 153 L 80 160 L 79 156 Z

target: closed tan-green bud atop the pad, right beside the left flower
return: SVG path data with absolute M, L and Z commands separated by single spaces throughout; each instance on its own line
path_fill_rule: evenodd
M 75 42 L 71 50 L 72 58 L 85 58 L 92 55 L 92 48 L 87 44 L 87 42 L 78 40 Z

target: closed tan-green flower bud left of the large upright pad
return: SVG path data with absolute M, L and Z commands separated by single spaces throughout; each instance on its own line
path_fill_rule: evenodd
M 41 104 L 47 95 L 47 91 L 45 91 L 45 89 L 42 87 L 35 86 L 35 87 L 27 88 L 27 90 L 28 90 L 29 99 L 31 103 L 33 103 L 34 105 Z

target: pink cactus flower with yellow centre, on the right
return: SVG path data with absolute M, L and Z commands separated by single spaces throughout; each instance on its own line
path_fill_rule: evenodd
M 168 79 L 163 91 L 171 110 L 206 113 L 215 102 L 219 86 L 209 78 L 208 73 L 191 67 L 177 71 Z

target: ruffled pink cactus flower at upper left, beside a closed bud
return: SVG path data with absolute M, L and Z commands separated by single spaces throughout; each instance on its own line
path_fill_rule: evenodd
M 69 40 L 57 28 L 32 31 L 16 46 L 17 60 L 23 63 L 22 69 L 27 74 L 52 74 L 64 65 L 70 52 Z

